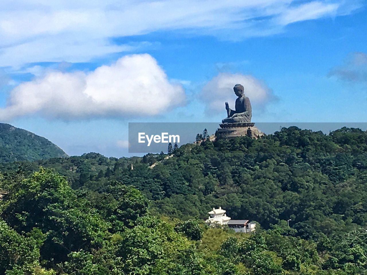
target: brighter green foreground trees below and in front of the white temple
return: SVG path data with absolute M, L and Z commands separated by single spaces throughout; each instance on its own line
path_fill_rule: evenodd
M 0 274 L 366 275 L 367 233 L 304 240 L 284 223 L 255 234 L 149 214 L 118 182 L 70 188 L 41 168 L 0 175 Z

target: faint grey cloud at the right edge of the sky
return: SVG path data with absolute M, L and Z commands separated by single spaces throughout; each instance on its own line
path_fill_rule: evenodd
M 350 54 L 344 64 L 331 69 L 328 76 L 342 81 L 367 83 L 367 54 L 364 52 Z

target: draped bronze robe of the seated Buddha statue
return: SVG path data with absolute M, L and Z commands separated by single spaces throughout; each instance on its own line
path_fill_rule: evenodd
M 247 96 L 236 99 L 235 110 L 228 110 L 228 117 L 223 123 L 246 123 L 251 122 L 251 103 Z

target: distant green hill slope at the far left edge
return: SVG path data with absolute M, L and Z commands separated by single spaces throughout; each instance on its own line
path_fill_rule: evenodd
M 37 160 L 68 155 L 54 143 L 24 129 L 0 123 L 0 162 Z

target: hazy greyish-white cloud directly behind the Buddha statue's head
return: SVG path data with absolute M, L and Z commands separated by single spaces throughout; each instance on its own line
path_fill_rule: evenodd
M 233 86 L 243 85 L 245 95 L 251 100 L 251 105 L 263 109 L 276 96 L 272 90 L 257 78 L 245 74 L 219 73 L 203 87 L 200 98 L 206 104 L 206 113 L 212 114 L 225 109 L 224 102 L 234 108 L 235 94 Z M 231 106 L 232 105 L 232 106 Z

